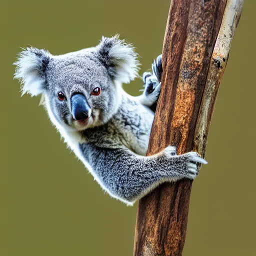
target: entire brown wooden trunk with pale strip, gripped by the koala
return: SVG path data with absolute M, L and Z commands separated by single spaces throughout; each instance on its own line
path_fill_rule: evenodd
M 242 0 L 171 0 L 161 93 L 147 155 L 169 144 L 176 145 L 179 154 L 196 149 L 204 155 L 217 88 L 241 6 Z M 164 183 L 140 199 L 134 256 L 181 255 L 191 184 L 188 179 Z

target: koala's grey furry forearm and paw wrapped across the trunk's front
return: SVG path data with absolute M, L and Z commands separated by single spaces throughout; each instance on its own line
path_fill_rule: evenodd
M 196 162 L 206 163 L 195 152 L 176 155 L 173 146 L 152 156 L 140 156 L 127 148 L 109 149 L 91 144 L 81 144 L 80 149 L 103 188 L 130 205 L 164 181 L 195 178 Z

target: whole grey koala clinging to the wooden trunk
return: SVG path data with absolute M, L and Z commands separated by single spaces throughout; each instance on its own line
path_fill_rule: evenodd
M 22 95 L 41 94 L 42 104 L 64 141 L 103 190 L 132 205 L 165 181 L 194 179 L 196 152 L 177 155 L 175 146 L 145 156 L 160 92 L 161 55 L 143 73 L 144 90 L 122 89 L 138 77 L 132 44 L 102 37 L 98 45 L 63 55 L 27 47 L 14 62 Z

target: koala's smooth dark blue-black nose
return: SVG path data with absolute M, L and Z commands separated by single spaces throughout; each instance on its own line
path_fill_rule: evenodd
M 74 94 L 71 97 L 71 109 L 75 120 L 83 120 L 90 117 L 91 108 L 82 94 Z

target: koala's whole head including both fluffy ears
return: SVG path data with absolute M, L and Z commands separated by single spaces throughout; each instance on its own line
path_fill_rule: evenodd
M 136 57 L 134 48 L 117 35 L 57 56 L 28 47 L 14 63 L 14 78 L 20 80 L 22 95 L 42 94 L 54 123 L 83 130 L 107 122 L 116 112 L 120 84 L 137 76 Z

